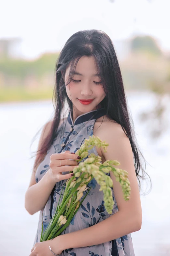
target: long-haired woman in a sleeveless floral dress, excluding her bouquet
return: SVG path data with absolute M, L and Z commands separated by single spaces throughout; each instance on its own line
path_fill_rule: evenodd
M 140 230 L 142 209 L 139 171 L 144 170 L 135 144 L 119 63 L 111 39 L 100 30 L 73 34 L 65 43 L 56 64 L 55 115 L 42 132 L 34 171 L 25 195 L 30 214 L 40 211 L 38 229 L 30 256 L 101 255 L 134 256 L 131 232 Z M 68 115 L 61 119 L 64 104 Z M 55 213 L 64 183 L 78 165 L 74 153 L 89 136 L 109 143 L 107 152 L 93 147 L 89 153 L 120 162 L 128 171 L 131 198 L 123 199 L 113 175 L 112 214 L 104 207 L 103 192 L 92 179 L 92 187 L 70 225 L 52 240 L 40 242 Z M 84 192 L 86 193 L 86 192 Z M 50 250 L 50 248 L 51 250 Z

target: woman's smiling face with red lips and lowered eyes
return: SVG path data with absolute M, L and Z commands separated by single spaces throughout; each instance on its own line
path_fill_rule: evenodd
M 66 69 L 64 81 L 67 84 L 70 66 Z M 76 74 L 79 73 L 79 74 Z M 66 85 L 66 93 L 73 103 L 73 110 L 77 114 L 89 112 L 105 98 L 106 94 L 102 88 L 100 76 L 96 75 L 93 57 L 83 56 L 79 59 L 73 80 Z M 74 81 L 75 80 L 75 81 Z M 78 82 L 76 82 L 78 81 Z M 79 100 L 93 99 L 90 104 L 82 104 Z M 101 107 L 100 104 L 98 107 Z

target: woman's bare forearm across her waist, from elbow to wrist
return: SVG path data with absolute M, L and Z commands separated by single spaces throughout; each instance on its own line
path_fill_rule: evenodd
M 107 219 L 86 229 L 57 236 L 51 240 L 51 248 L 65 250 L 102 244 L 140 230 L 140 222 L 133 212 L 118 211 Z

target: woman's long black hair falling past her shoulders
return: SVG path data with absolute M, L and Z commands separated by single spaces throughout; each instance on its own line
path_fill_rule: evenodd
M 66 68 L 70 65 L 69 83 L 70 79 L 73 77 L 78 60 L 82 56 L 92 56 L 95 60 L 96 70 L 97 73 L 100 74 L 101 81 L 103 81 L 103 90 L 106 93 L 105 98 L 100 102 L 101 107 L 105 108 L 106 115 L 110 119 L 115 120 L 121 125 L 123 131 L 130 140 L 134 155 L 135 173 L 139 181 L 139 190 L 141 190 L 139 178 L 144 179 L 147 174 L 145 172 L 146 160 L 136 143 L 133 128 L 134 123 L 127 109 L 122 75 L 113 43 L 109 36 L 101 30 L 91 29 L 76 32 L 66 41 L 59 54 L 55 67 L 55 87 L 52 96 L 55 110 L 54 117 L 49 135 L 44 139 L 41 149 L 38 150 L 40 152 L 38 153 L 37 151 L 38 157 L 35 160 L 33 168 L 35 170 L 38 164 L 43 161 L 47 150 L 50 148 L 56 137 L 61 120 L 61 113 L 64 112 L 65 101 L 67 102 L 69 109 L 73 109 L 72 101 L 66 93 L 64 76 Z M 141 157 L 144 160 L 145 168 L 143 167 Z M 140 171 L 141 174 L 139 174 Z

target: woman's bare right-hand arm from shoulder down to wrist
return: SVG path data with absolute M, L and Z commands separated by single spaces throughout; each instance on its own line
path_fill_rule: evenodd
M 103 133 L 102 131 L 105 132 Z M 61 250 L 102 244 L 141 229 L 142 209 L 129 138 L 119 124 L 112 122 L 106 123 L 106 127 L 103 127 L 97 136 L 102 141 L 109 143 L 106 153 L 101 149 L 104 158 L 106 160 L 119 161 L 120 165 L 116 167 L 129 173 L 129 181 L 131 183 L 130 200 L 124 200 L 120 183 L 116 181 L 115 176 L 110 172 L 119 211 L 89 228 L 54 238 L 51 240 L 54 250 L 55 245 L 58 247 L 59 244 L 61 245 Z

